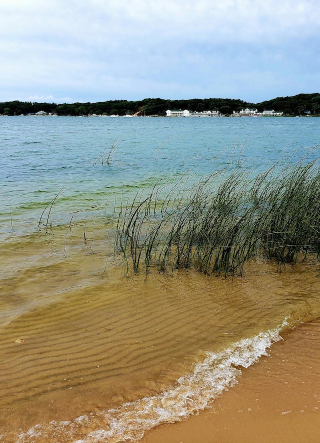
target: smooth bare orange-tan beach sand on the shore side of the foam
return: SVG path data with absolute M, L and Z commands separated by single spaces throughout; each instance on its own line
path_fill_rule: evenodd
M 274 343 L 212 409 L 147 432 L 142 443 L 320 441 L 320 320 Z

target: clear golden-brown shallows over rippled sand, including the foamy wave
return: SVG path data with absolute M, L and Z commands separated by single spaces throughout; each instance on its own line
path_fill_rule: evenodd
M 20 242 L 4 255 L 20 256 Z M 286 329 L 320 312 L 312 263 L 278 273 L 253 262 L 233 282 L 155 269 L 145 280 L 117 260 L 102 274 L 100 253 L 64 257 L 52 238 L 22 243 L 27 266 L 2 266 L 7 442 L 135 441 L 212 405 Z

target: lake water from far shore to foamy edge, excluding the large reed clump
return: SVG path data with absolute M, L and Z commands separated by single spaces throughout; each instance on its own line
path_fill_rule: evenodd
M 149 177 L 210 174 L 242 147 L 255 172 L 299 157 L 320 142 L 319 119 L 1 117 L 0 128 L 0 441 L 136 441 L 211 406 L 318 317 L 312 263 L 279 274 L 258 261 L 233 282 L 126 278 L 116 256 L 103 270 L 121 196 Z

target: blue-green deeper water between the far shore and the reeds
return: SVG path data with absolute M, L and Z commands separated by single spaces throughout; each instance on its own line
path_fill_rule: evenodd
M 106 164 L 117 138 L 121 142 Z M 190 168 L 209 174 L 234 161 L 242 147 L 242 158 L 265 169 L 283 148 L 319 142 L 318 118 L 0 117 L 0 232 L 11 232 L 10 212 L 17 232 L 36 228 L 64 185 L 52 224 L 148 177 L 174 180 Z

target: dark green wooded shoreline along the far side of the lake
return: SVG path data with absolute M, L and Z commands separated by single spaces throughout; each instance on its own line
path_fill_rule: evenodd
M 191 112 L 218 111 L 223 115 L 230 115 L 233 111 L 242 108 L 256 108 L 259 112 L 273 109 L 283 112 L 283 115 L 320 115 L 320 94 L 298 94 L 291 97 L 277 97 L 260 103 L 250 103 L 239 99 L 189 99 L 165 100 L 160 98 L 143 99 L 137 101 L 108 100 L 96 103 L 36 103 L 36 102 L 3 102 L 0 103 L 0 115 L 27 115 L 39 111 L 54 113 L 60 116 L 87 116 L 87 115 L 156 115 L 163 116 L 168 109 L 187 109 Z

